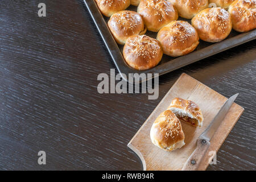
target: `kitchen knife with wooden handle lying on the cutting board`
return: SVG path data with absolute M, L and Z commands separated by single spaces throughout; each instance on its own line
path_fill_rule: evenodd
M 183 168 L 181 169 L 182 171 L 197 170 L 201 160 L 205 155 L 205 152 L 208 150 L 210 146 L 210 139 L 213 137 L 215 131 L 218 129 L 218 126 L 220 126 L 221 122 L 225 118 L 226 113 L 228 113 L 230 107 L 232 106 L 234 100 L 236 100 L 237 96 L 238 96 L 238 93 L 234 94 L 234 96 L 230 97 L 224 103 L 224 105 L 222 105 L 217 115 L 210 122 L 210 125 L 196 140 L 196 149 L 195 151 L 193 151 L 191 156 L 189 156 L 188 160 L 185 162 Z

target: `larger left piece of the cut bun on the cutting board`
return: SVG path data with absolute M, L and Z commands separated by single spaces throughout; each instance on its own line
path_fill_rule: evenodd
M 170 110 L 166 110 L 155 119 L 150 138 L 159 148 L 164 150 L 176 150 L 184 146 L 184 133 L 179 119 Z

